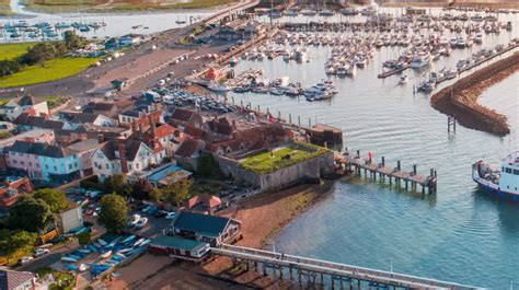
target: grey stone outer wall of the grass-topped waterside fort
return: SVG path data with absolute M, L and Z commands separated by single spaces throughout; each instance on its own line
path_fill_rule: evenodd
M 309 181 L 318 181 L 321 176 L 333 172 L 333 152 L 325 152 L 297 164 L 282 167 L 268 174 L 256 174 L 240 165 L 240 162 L 226 156 L 216 156 L 223 174 L 260 187 L 263 192 L 284 189 Z

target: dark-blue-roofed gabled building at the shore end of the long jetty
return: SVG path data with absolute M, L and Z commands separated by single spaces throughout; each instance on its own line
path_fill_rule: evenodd
M 241 222 L 231 218 L 181 211 L 173 222 L 173 233 L 218 246 L 241 239 Z

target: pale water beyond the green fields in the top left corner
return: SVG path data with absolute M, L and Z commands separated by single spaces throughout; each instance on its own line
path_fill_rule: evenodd
M 198 11 L 174 11 L 174 12 L 153 12 L 153 13 L 120 13 L 120 14 L 111 14 L 111 13 L 84 13 L 84 12 L 73 12 L 67 14 L 49 14 L 44 12 L 35 12 L 26 10 L 25 5 L 21 4 L 20 0 L 11 0 L 11 10 L 18 14 L 18 16 L 23 16 L 23 21 L 27 24 L 33 25 L 39 22 L 47 22 L 49 24 L 56 23 L 94 23 L 94 22 L 105 22 L 106 26 L 100 27 L 97 30 L 91 30 L 90 32 L 81 32 L 82 36 L 89 38 L 105 38 L 122 36 L 129 33 L 135 34 L 152 34 L 162 32 L 165 30 L 181 27 L 183 25 L 189 24 L 189 21 L 195 21 L 207 16 L 214 12 L 214 10 L 198 10 Z M 59 11 L 57 11 L 59 12 Z M 18 23 L 20 19 L 18 18 L 1 18 L 0 23 Z M 177 23 L 177 21 L 185 21 L 186 23 Z M 138 26 L 134 28 L 134 26 Z M 33 40 L 24 37 L 19 39 L 10 39 L 9 37 L 0 38 L 0 42 L 27 42 Z

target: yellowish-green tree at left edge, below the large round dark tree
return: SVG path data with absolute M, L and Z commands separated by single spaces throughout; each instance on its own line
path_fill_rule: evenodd
M 9 258 L 15 254 L 27 255 L 33 252 L 37 234 L 20 230 L 0 230 L 0 253 Z

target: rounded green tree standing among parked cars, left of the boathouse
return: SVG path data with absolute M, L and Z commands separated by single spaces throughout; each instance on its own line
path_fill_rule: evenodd
M 118 232 L 125 228 L 128 207 L 122 196 L 115 193 L 105 195 L 101 199 L 100 206 L 99 222 L 102 223 L 107 231 Z

